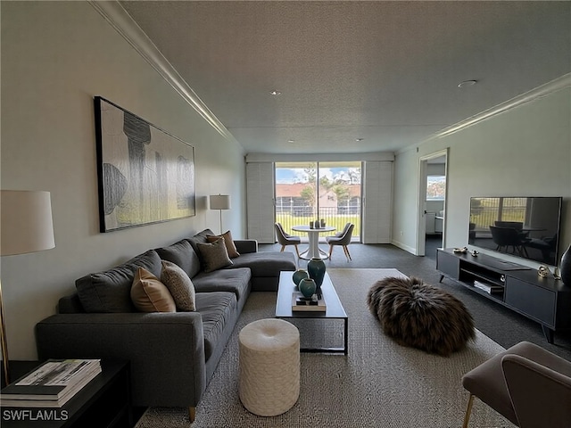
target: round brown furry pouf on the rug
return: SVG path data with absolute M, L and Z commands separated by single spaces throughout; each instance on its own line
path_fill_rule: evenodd
M 388 277 L 368 291 L 368 308 L 397 343 L 448 356 L 474 340 L 474 320 L 464 304 L 415 277 Z

